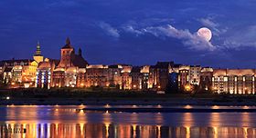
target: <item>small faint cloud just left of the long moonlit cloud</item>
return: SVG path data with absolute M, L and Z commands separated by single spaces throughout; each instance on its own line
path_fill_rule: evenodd
M 101 29 L 103 29 L 105 31 L 106 34 L 108 34 L 110 36 L 112 36 L 114 38 L 120 37 L 119 31 L 117 29 L 113 28 L 112 25 L 101 22 L 100 27 L 101 27 Z

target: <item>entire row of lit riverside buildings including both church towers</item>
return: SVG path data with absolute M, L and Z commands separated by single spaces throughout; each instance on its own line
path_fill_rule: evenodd
M 0 76 L 9 88 L 105 87 L 135 91 L 186 92 L 196 89 L 213 93 L 254 94 L 255 69 L 213 69 L 200 65 L 157 62 L 155 65 L 88 64 L 70 44 L 61 48 L 60 60 L 44 58 L 37 44 L 33 59 L 0 62 Z

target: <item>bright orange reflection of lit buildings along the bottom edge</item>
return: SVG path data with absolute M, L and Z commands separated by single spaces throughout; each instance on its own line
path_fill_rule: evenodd
M 10 130 L 27 129 L 24 132 Z M 187 130 L 188 129 L 188 130 Z M 0 124 L 1 137 L 89 137 L 89 138 L 167 138 L 167 137 L 255 137 L 255 128 L 246 127 L 168 127 L 99 123 Z

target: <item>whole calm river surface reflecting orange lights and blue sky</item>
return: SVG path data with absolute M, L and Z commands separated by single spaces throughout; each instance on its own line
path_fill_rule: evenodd
M 0 106 L 0 137 L 256 137 L 256 113 L 84 113 L 80 106 Z M 24 130 L 22 132 L 10 132 Z

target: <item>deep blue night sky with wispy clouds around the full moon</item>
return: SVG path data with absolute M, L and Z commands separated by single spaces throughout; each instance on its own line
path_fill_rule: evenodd
M 69 36 L 90 64 L 255 68 L 255 0 L 1 0 L 0 59 L 60 57 Z M 210 42 L 196 35 L 208 27 Z

